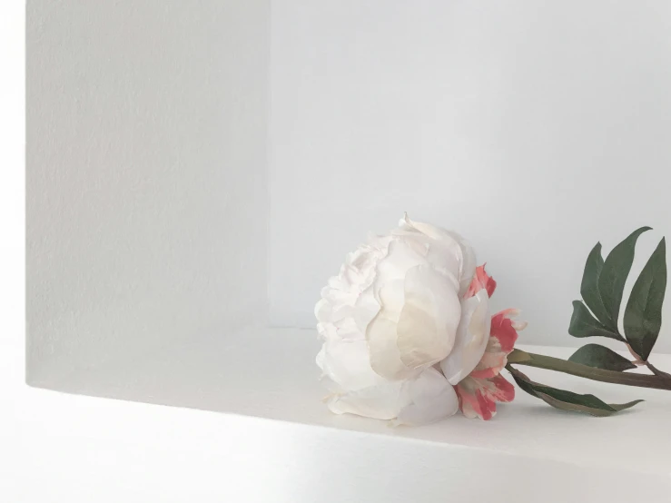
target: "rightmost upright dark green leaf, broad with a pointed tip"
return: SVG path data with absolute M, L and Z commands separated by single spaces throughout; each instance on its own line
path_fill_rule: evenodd
M 662 238 L 634 283 L 625 308 L 627 341 L 643 360 L 650 355 L 662 326 L 665 292 L 666 242 Z

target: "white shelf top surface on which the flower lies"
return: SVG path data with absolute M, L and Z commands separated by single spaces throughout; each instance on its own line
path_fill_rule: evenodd
M 236 337 L 212 337 L 181 348 L 166 348 L 144 355 L 142 362 L 110 363 L 85 375 L 73 374 L 54 387 L 78 394 L 288 421 L 293 423 L 292 430 L 302 425 L 326 427 L 319 435 L 327 444 L 356 445 L 356 439 L 368 439 L 370 445 L 395 452 L 409 449 L 402 446 L 411 441 L 412 449 L 434 457 L 441 452 L 446 459 L 475 456 L 489 462 L 503 456 L 509 475 L 520 479 L 525 478 L 520 467 L 550 469 L 545 477 L 552 479 L 565 469 L 589 468 L 590 477 L 598 480 L 598 474 L 604 475 L 604 483 L 612 474 L 620 474 L 656 480 L 649 488 L 662 487 L 659 484 L 671 488 L 671 394 L 667 391 L 613 386 L 530 369 L 528 374 L 537 380 L 591 392 L 605 401 L 646 402 L 599 419 L 551 409 L 518 390 L 516 400 L 500 406 L 498 415 L 488 422 L 458 415 L 426 427 L 390 428 L 378 420 L 335 416 L 323 406 L 324 390 L 314 364 L 318 349 L 313 330 L 249 330 Z M 572 352 L 568 348 L 527 349 L 561 357 Z M 671 369 L 671 356 L 657 355 L 656 363 Z M 247 424 L 258 423 L 248 419 Z M 358 435 L 342 437 L 339 430 Z M 369 454 L 357 452 L 355 456 Z M 459 469 L 459 463 L 454 463 L 450 469 Z M 563 467 L 559 472 L 558 466 Z

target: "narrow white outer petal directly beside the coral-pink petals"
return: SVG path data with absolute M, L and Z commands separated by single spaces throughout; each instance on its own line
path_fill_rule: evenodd
M 440 362 L 445 377 L 456 385 L 475 369 L 487 348 L 491 315 L 487 290 L 463 301 L 457 340 L 449 356 Z

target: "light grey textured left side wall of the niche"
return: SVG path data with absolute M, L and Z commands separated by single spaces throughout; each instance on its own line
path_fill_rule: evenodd
M 269 15 L 28 2 L 29 382 L 264 311 Z

